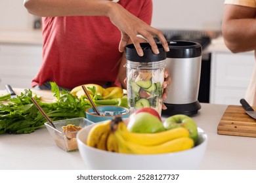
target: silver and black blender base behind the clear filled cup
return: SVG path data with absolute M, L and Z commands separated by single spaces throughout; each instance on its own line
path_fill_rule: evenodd
M 171 85 L 167 99 L 163 101 L 166 110 L 163 116 L 198 113 L 198 101 L 202 63 L 202 46 L 192 41 L 168 41 L 170 51 L 166 54 L 166 68 L 169 69 Z

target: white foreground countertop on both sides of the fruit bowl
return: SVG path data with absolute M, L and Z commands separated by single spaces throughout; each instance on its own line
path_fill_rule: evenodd
M 198 169 L 256 169 L 255 138 L 217 134 L 226 107 L 202 103 L 198 114 L 192 117 L 209 139 Z M 45 128 L 31 134 L 0 135 L 0 162 L 2 170 L 87 169 L 79 152 L 58 148 Z

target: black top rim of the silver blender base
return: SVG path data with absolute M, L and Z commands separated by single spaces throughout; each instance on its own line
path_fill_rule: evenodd
M 167 58 L 196 58 L 202 56 L 202 46 L 194 41 L 167 41 L 170 51 Z

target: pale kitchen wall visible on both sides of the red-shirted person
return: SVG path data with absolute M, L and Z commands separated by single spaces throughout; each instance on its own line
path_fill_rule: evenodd
M 161 29 L 219 30 L 224 0 L 153 0 L 152 25 Z M 23 0 L 0 1 L 0 29 L 32 29 Z

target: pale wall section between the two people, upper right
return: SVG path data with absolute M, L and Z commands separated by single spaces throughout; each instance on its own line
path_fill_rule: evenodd
M 152 26 L 159 29 L 221 29 L 224 0 L 153 0 Z

